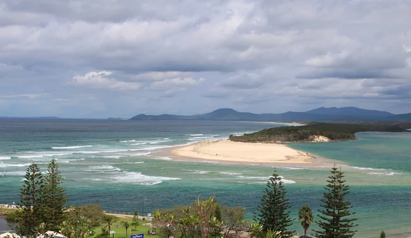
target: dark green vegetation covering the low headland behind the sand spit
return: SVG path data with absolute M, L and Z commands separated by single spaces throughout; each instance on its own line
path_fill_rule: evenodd
M 273 127 L 241 136 L 230 135 L 234 142 L 312 142 L 316 136 L 331 141 L 356 140 L 356 133 L 366 131 L 410 132 L 411 122 L 313 123 L 301 127 Z

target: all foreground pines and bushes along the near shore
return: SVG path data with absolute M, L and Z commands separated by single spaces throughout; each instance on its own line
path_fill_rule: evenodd
M 340 238 L 353 237 L 356 218 L 351 212 L 353 205 L 347 200 L 349 186 L 345 185 L 345 176 L 340 169 L 332 168 L 321 200 L 321 209 L 316 215 L 319 229 L 312 230 L 315 237 Z M 49 163 L 45 176 L 36 163 L 27 168 L 24 184 L 21 188 L 21 209 L 10 213 L 8 219 L 14 220 L 16 234 L 27 238 L 43 235 L 47 230 L 62 233 L 68 238 L 84 238 L 95 235 L 94 229 L 100 224 L 99 238 L 109 237 L 110 226 L 116 217 L 103 213 L 99 204 L 87 204 L 82 207 L 64 207 L 68 198 L 61 186 L 62 176 L 58 163 L 53 159 Z M 242 231 L 248 231 L 249 237 L 280 238 L 292 237 L 295 230 L 290 230 L 290 203 L 286 197 L 282 177 L 274 170 L 266 183 L 261 203 L 253 213 L 253 222 L 245 220 L 243 207 L 227 207 L 219 204 L 214 194 L 204 200 L 200 196 L 188 206 L 175 206 L 173 209 L 153 212 L 152 228 L 160 237 L 230 237 Z M 312 209 L 307 205 L 299 208 L 298 220 L 307 237 L 308 229 L 314 222 Z M 132 222 L 122 222 L 127 230 L 139 225 L 138 213 L 134 211 Z M 380 237 L 385 237 L 382 231 Z

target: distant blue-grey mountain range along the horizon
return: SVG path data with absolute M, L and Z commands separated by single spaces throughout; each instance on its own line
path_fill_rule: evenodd
M 252 114 L 231 108 L 216 109 L 208 114 L 178 116 L 162 114 L 158 116 L 140 114 L 131 120 L 236 120 L 260 122 L 301 122 L 301 121 L 411 121 L 410 114 L 391 114 L 387 111 L 360 109 L 358 107 L 319 107 L 310 111 L 287 111 L 282 114 Z

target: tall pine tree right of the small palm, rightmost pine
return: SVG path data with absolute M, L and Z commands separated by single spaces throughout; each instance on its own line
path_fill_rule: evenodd
M 320 206 L 323 209 L 319 210 L 320 214 L 318 215 L 321 220 L 316 223 L 322 230 L 314 230 L 316 237 L 348 238 L 353 237 L 357 232 L 357 230 L 352 230 L 353 227 L 358 226 L 353 223 L 356 219 L 349 218 L 355 213 L 349 211 L 353 206 L 345 199 L 345 196 L 349 194 L 349 186 L 345 185 L 343 174 L 334 165 L 325 187 L 324 199 L 321 200 Z

